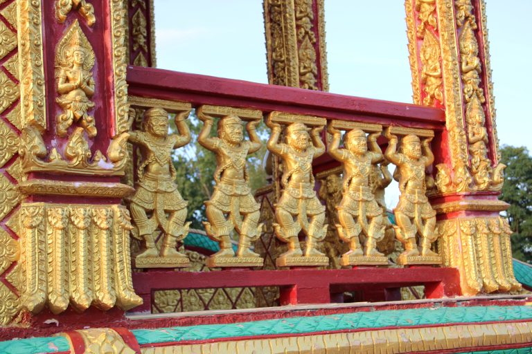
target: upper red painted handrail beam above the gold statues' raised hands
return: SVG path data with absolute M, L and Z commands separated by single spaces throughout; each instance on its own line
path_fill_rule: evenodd
M 129 66 L 127 84 L 129 95 L 179 100 L 193 105 L 217 104 L 263 112 L 285 111 L 387 126 L 445 127 L 442 109 L 157 68 Z

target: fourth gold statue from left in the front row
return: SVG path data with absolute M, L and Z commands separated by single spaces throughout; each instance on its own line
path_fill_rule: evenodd
M 346 133 L 344 149 L 339 148 L 342 133 L 335 128 L 334 122 L 328 131 L 332 134 L 328 153 L 344 165 L 344 196 L 336 207 L 340 222 L 336 225 L 338 234 L 340 239 L 349 243 L 349 251 L 342 255 L 342 265 L 387 265 L 387 257 L 376 248 L 384 236 L 382 209 L 369 185 L 371 166 L 383 159 L 377 144 L 380 132 L 371 133 L 367 138 L 368 151 L 366 132 L 362 129 L 354 128 Z M 361 234 L 366 238 L 364 252 L 360 245 Z

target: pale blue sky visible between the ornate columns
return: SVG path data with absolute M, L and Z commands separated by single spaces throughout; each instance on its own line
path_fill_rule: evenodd
M 499 140 L 532 152 L 532 1 L 486 2 Z M 412 102 L 403 3 L 325 0 L 330 92 Z M 267 83 L 262 0 L 155 0 L 155 21 L 159 68 Z

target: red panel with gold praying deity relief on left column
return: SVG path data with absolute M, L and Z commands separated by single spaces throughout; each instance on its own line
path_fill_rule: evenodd
M 52 5 L 53 12 L 47 8 Z M 19 33 L 23 43 L 38 44 L 21 50 L 21 73 L 35 78 L 22 89 L 24 171 L 123 174 L 127 151 L 120 134 L 127 130 L 127 86 L 122 1 L 57 0 L 45 3 L 44 9 L 41 3 L 31 6 L 20 9 L 21 18 L 42 12 L 49 26 L 29 26 Z M 111 24 L 106 23 L 104 6 L 113 13 Z M 52 45 L 43 47 L 43 37 Z M 43 58 L 53 65 L 43 68 Z M 104 68 L 112 68 L 113 74 Z

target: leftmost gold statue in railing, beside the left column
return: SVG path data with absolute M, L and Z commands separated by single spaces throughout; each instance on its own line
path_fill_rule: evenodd
M 179 134 L 168 135 L 168 112 L 161 108 L 145 111 L 143 131 L 131 131 L 128 140 L 139 146 L 142 160 L 137 170 L 139 182 L 131 199 L 131 214 L 145 250 L 136 256 L 137 267 L 186 267 L 188 258 L 176 250 L 177 241 L 188 234 L 186 205 L 175 184 L 172 151 L 190 142 L 185 119 L 190 111 L 175 115 Z M 151 214 L 151 217 L 148 217 Z M 154 231 L 164 233 L 160 252 Z

